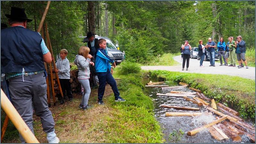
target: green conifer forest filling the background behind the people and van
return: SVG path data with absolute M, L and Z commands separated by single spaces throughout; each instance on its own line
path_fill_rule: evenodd
M 12 6 L 25 8 L 28 28 L 36 31 L 46 1 L 1 1 L 1 23 Z M 46 21 L 54 55 L 69 51 L 73 61 L 88 31 L 107 36 L 131 61 L 147 63 L 164 53 L 179 52 L 212 37 L 227 42 L 243 37 L 255 50 L 255 1 L 51 1 Z

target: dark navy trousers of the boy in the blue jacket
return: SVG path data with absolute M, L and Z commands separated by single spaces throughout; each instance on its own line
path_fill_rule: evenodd
M 99 99 L 99 101 L 102 101 L 102 97 L 103 97 L 104 92 L 105 92 L 106 82 L 108 82 L 108 84 L 111 86 L 111 88 L 114 92 L 114 95 L 115 95 L 115 99 L 118 99 L 120 93 L 118 92 L 116 81 L 113 78 L 110 71 L 108 70 L 107 72 L 98 72 L 97 75 L 98 75 L 99 84 L 100 84 L 100 86 L 98 88 L 98 99 Z

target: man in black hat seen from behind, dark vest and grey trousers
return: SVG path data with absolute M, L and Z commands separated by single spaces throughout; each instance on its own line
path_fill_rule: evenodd
M 52 56 L 38 32 L 26 29 L 28 19 L 25 10 L 11 8 L 10 28 L 1 30 L 1 70 L 9 82 L 12 104 L 33 130 L 33 106 L 41 118 L 43 131 L 49 143 L 59 143 L 54 130 L 54 120 L 46 100 L 44 62 L 51 63 Z M 25 140 L 20 135 L 20 140 Z

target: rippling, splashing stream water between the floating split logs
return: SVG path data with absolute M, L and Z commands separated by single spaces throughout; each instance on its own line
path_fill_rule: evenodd
M 157 79 L 151 78 L 144 78 L 142 79 L 143 84 L 147 84 L 149 81 L 158 82 Z M 165 82 L 161 85 L 169 85 L 169 86 L 179 86 L 178 83 L 175 82 Z M 170 91 L 170 90 L 169 90 Z M 160 123 L 163 133 L 164 139 L 166 143 L 235 143 L 231 141 L 231 139 L 227 141 L 218 141 L 212 138 L 208 129 L 204 129 L 203 131 L 197 133 L 193 136 L 187 136 L 187 132 L 193 130 L 194 128 L 201 127 L 205 124 L 208 124 L 214 120 L 216 120 L 215 115 L 209 113 L 207 110 L 204 109 L 204 106 L 197 106 L 196 104 L 192 103 L 191 101 L 185 100 L 183 97 L 170 97 L 170 96 L 157 96 L 156 93 L 168 93 L 167 91 L 162 91 L 159 87 L 147 87 L 146 88 L 146 95 L 151 97 L 154 102 L 154 113 L 157 121 Z M 172 91 L 183 91 L 183 92 L 194 92 L 188 88 L 179 88 L 179 89 L 172 89 Z M 191 98 L 191 97 L 190 97 Z M 161 107 L 161 104 L 168 104 L 171 106 L 183 106 L 183 107 L 199 107 L 199 111 L 187 111 L 187 110 L 176 110 L 174 108 L 164 108 Z M 203 112 L 201 116 L 169 116 L 165 117 L 165 112 Z M 172 137 L 170 134 L 173 131 L 182 130 L 184 134 L 180 136 L 180 139 L 176 141 L 175 136 Z M 242 142 L 241 143 L 251 143 L 246 136 L 241 136 Z

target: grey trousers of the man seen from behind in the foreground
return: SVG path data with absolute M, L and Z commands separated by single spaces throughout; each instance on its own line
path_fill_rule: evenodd
M 16 76 L 9 79 L 9 91 L 12 98 L 12 104 L 20 114 L 21 118 L 28 125 L 29 129 L 33 130 L 33 106 L 36 115 L 41 118 L 43 131 L 50 133 L 54 131 L 54 120 L 52 113 L 48 108 L 46 99 L 46 80 L 44 72 L 23 76 Z M 20 135 L 20 140 L 25 143 L 25 140 Z

